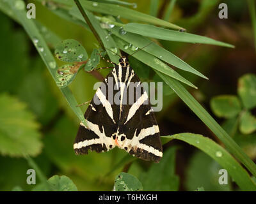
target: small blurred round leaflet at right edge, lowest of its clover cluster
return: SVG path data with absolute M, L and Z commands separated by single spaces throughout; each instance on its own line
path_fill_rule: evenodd
M 256 117 L 250 112 L 243 112 L 240 119 L 239 130 L 241 133 L 248 135 L 256 130 Z

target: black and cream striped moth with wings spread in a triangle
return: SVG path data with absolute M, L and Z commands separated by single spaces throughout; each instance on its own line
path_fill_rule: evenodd
M 103 90 L 109 87 L 111 79 L 115 87 L 110 89 L 111 94 L 120 93 L 120 104 L 111 103 L 109 89 Z M 127 89 L 131 84 L 137 84 L 132 87 L 133 95 L 129 95 Z M 88 154 L 88 150 L 106 152 L 119 147 L 132 156 L 159 163 L 163 157 L 159 127 L 147 92 L 143 87 L 136 88 L 140 84 L 128 58 L 121 56 L 84 113 L 87 128 L 81 122 L 74 142 L 76 154 Z M 124 98 L 132 103 L 124 103 Z M 100 103 L 95 103 L 95 99 Z

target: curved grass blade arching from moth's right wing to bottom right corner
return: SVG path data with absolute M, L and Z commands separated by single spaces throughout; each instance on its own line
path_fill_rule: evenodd
M 182 140 L 197 147 L 227 170 L 228 174 L 243 191 L 256 191 L 256 184 L 250 178 L 250 175 L 246 170 L 244 170 L 244 168 L 227 152 L 227 150 L 210 138 L 192 133 L 181 133 L 172 136 L 163 136 L 161 138 Z

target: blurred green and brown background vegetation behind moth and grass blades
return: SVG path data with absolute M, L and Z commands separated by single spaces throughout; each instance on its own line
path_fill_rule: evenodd
M 88 54 L 92 53 L 93 48 L 97 48 L 98 42 L 90 31 L 54 15 L 38 2 L 31 2 L 36 4 L 36 20 L 54 31 L 61 39 L 76 39 L 86 48 Z M 134 3 L 131 0 L 128 2 Z M 235 102 L 228 101 L 227 107 L 219 106 L 220 109 L 225 109 L 223 117 L 227 119 L 219 118 L 221 115 L 214 112 L 214 108 L 212 113 L 216 113 L 218 116 L 216 120 L 223 124 L 246 154 L 255 161 L 255 128 L 250 134 L 244 135 L 241 126 L 242 133 L 237 130 L 235 118 L 240 112 L 250 112 L 253 117 L 256 115 L 254 95 L 246 98 L 243 97 L 243 91 L 237 93 L 239 77 L 246 73 L 256 73 L 253 29 L 246 1 L 221 1 L 228 4 L 228 19 L 218 18 L 220 3 L 218 0 L 177 0 L 168 18 L 164 16 L 164 11 L 168 9 L 167 5 L 170 1 L 159 0 L 158 10 L 150 8 L 148 0 L 140 0 L 136 3 L 138 4 L 136 10 L 168 19 L 169 22 L 185 27 L 189 33 L 236 45 L 236 48 L 232 49 L 159 40 L 161 46 L 209 78 L 204 80 L 174 68 L 177 73 L 198 87 L 198 90 L 193 88 L 188 90 L 209 112 L 211 112 L 210 101 L 214 96 L 225 94 L 241 97 L 241 99 L 228 98 L 227 100 Z M 45 177 L 66 175 L 76 184 L 79 191 L 111 191 L 116 175 L 121 171 L 131 173 L 140 179 L 144 190 L 195 191 L 198 187 L 203 187 L 205 191 L 239 190 L 231 181 L 227 186 L 219 185 L 218 170 L 221 166 L 204 152 L 177 140 L 164 145 L 164 157 L 159 164 L 128 158 L 127 162 L 111 171 L 113 166 L 127 156 L 123 150 L 113 149 L 102 154 L 90 152 L 86 156 L 76 156 L 73 142 L 79 120 L 68 106 L 22 27 L 1 12 L 0 25 L 0 191 L 10 191 L 15 186 L 31 191 L 35 187 L 26 184 L 28 177 L 26 171 L 31 168 L 28 161 L 22 158 L 26 153 L 33 156 Z M 59 66 L 63 64 L 57 62 Z M 140 71 L 142 62 L 132 58 L 131 64 L 141 79 L 161 81 L 151 69 L 148 73 Z M 105 66 L 107 64 L 104 61 L 98 65 L 98 67 Z M 108 72 L 109 70 L 100 71 L 102 76 L 106 76 Z M 95 82 L 98 82 L 98 79 L 94 75 L 80 71 L 69 87 L 77 101 L 83 103 L 92 99 Z M 255 89 L 245 93 L 253 91 L 255 92 Z M 170 88 L 166 92 L 164 91 L 163 110 L 156 113 L 161 135 L 199 133 L 222 145 Z M 244 100 L 248 102 L 244 103 Z M 230 106 L 230 103 L 235 105 Z M 87 105 L 81 108 L 85 112 Z M 226 112 L 228 108 L 231 108 L 231 112 Z M 10 151 L 7 148 L 9 144 L 16 148 Z M 21 146 L 28 148 L 19 149 Z M 158 177 L 154 179 L 156 175 Z M 52 182 L 56 184 L 60 182 L 60 178 L 54 177 Z M 36 183 L 40 184 L 38 178 Z M 76 189 L 72 183 L 68 184 L 71 185 L 70 189 Z M 41 187 L 38 187 L 38 190 L 44 190 L 44 187 Z

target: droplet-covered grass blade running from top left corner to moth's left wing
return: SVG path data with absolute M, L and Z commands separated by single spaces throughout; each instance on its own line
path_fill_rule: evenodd
M 25 4 L 24 4 L 24 6 L 22 6 L 22 3 L 24 3 L 24 2 L 19 1 L 19 2 L 21 2 L 20 6 L 17 6 L 16 2 L 17 1 L 14 1 L 14 0 L 8 1 L 10 7 L 12 8 L 13 13 L 15 13 L 17 19 L 19 19 L 20 24 L 24 27 L 25 31 L 28 33 L 29 37 L 33 41 L 33 43 L 36 47 L 36 50 L 38 50 L 40 57 L 44 61 L 45 65 L 47 66 L 48 71 L 51 73 L 52 78 L 56 82 L 55 74 L 58 69 L 58 66 L 56 64 L 56 61 L 55 61 L 52 53 L 51 53 L 51 50 L 47 46 L 47 43 L 45 42 L 44 37 L 38 30 L 38 27 L 36 27 L 36 24 L 34 23 L 34 21 L 27 18 Z M 63 92 L 64 96 L 65 96 L 65 92 L 67 92 L 68 90 L 69 90 L 68 87 L 65 87 L 64 92 L 63 92 L 63 90 L 61 90 Z M 70 105 L 72 105 L 71 108 L 72 108 L 72 110 L 74 110 L 74 113 L 76 113 L 77 117 L 81 121 L 84 121 L 83 112 L 81 111 L 81 109 L 79 107 L 76 107 L 76 105 L 77 105 L 76 99 L 71 94 L 71 91 L 68 91 L 68 92 L 70 92 L 70 94 L 68 96 L 65 96 L 65 98 L 67 99 L 68 103 Z

